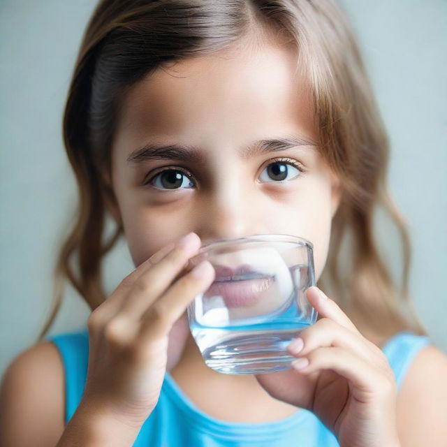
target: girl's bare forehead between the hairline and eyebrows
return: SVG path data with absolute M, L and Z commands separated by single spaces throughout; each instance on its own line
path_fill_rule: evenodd
M 244 138 L 295 131 L 316 139 L 297 58 L 291 47 L 263 45 L 164 64 L 124 96 L 115 141 L 175 138 L 205 145 L 219 137 L 240 138 L 242 145 Z

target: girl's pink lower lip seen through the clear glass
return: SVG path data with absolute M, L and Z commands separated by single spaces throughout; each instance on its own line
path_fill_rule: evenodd
M 254 305 L 274 283 L 273 277 L 260 277 L 235 281 L 214 281 L 206 294 L 220 295 L 227 307 L 247 307 Z

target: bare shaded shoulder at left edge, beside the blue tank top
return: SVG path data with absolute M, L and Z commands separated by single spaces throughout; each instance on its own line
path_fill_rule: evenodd
M 64 431 L 64 366 L 50 341 L 16 356 L 0 388 L 3 446 L 54 446 Z

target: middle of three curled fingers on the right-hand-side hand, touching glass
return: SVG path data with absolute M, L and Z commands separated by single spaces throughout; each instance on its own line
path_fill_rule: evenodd
M 293 356 L 303 357 L 314 349 L 330 346 L 346 349 L 366 361 L 374 361 L 377 365 L 383 363 L 383 356 L 379 355 L 380 349 L 376 345 L 330 318 L 321 318 L 314 325 L 302 330 L 300 336 L 288 344 L 287 351 Z

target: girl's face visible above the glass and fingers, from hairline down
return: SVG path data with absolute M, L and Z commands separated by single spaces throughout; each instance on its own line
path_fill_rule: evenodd
M 112 182 L 135 265 L 190 231 L 203 244 L 281 233 L 313 242 L 320 276 L 339 187 L 318 152 L 311 99 L 296 64 L 286 47 L 240 45 L 166 64 L 126 94 Z M 281 145 L 259 140 L 284 138 L 298 141 L 261 152 Z M 168 145 L 179 147 L 152 153 Z

